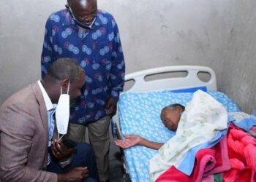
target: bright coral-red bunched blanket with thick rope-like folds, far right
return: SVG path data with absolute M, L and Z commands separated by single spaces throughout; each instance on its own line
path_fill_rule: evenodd
M 227 135 L 231 169 L 223 174 L 223 181 L 256 181 L 256 140 L 233 125 Z

